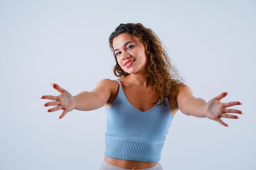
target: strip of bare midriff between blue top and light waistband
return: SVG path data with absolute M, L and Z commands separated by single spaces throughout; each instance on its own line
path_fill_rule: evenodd
M 105 157 L 104 160 L 113 166 L 116 166 L 119 168 L 124 168 L 124 169 L 131 169 L 131 170 L 140 170 L 140 169 L 151 168 L 157 164 L 157 163 L 151 163 L 151 162 L 114 159 L 114 158 L 109 158 L 109 157 Z

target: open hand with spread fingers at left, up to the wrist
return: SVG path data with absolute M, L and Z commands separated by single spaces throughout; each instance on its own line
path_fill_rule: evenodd
M 61 88 L 58 84 L 51 84 L 53 88 L 55 88 L 60 95 L 53 96 L 53 95 L 43 95 L 41 99 L 49 99 L 53 100 L 52 102 L 47 102 L 43 106 L 56 106 L 54 108 L 49 108 L 47 112 L 54 112 L 57 110 L 63 110 L 59 119 L 63 118 L 68 112 L 72 111 L 76 104 L 72 97 L 72 95 L 66 91 L 65 89 Z

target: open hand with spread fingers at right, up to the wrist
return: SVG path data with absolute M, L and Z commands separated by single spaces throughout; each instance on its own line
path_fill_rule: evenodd
M 220 102 L 220 100 L 226 97 L 227 95 L 228 95 L 227 92 L 223 92 L 220 95 L 209 100 L 205 108 L 204 115 L 207 118 L 218 121 L 223 126 L 228 127 L 228 124 L 226 124 L 220 118 L 239 119 L 237 115 L 230 115 L 228 113 L 243 114 L 243 112 L 241 110 L 228 108 L 231 106 L 241 105 L 242 104 L 241 102 L 227 102 L 227 103 Z

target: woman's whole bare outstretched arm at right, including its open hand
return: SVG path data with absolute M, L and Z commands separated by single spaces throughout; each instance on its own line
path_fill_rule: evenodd
M 177 103 L 180 111 L 185 115 L 207 117 L 218 121 L 223 126 L 228 126 L 221 118 L 239 119 L 237 115 L 230 115 L 228 113 L 243 114 L 243 112 L 241 110 L 228 108 L 230 106 L 241 105 L 241 102 L 220 102 L 220 100 L 227 95 L 227 92 L 223 92 L 209 100 L 209 102 L 206 102 L 204 99 L 194 97 L 189 86 L 184 86 L 180 87 L 178 90 Z

